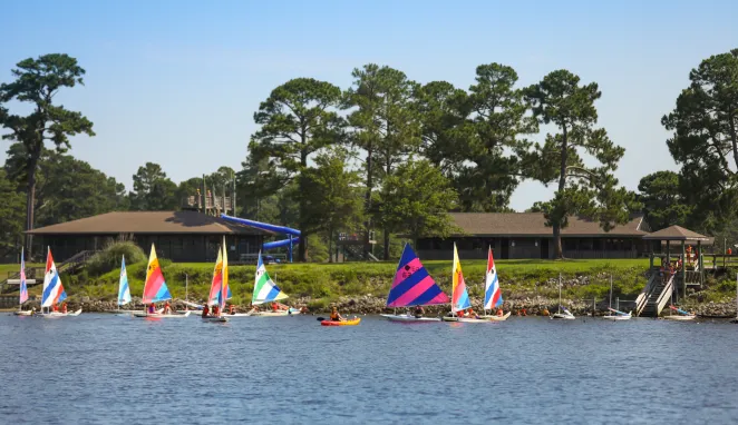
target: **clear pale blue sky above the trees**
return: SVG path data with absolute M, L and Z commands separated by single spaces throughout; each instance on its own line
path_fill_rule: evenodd
M 147 161 L 175 182 L 240 169 L 259 103 L 292 78 L 346 89 L 373 62 L 468 89 L 482 63 L 513 67 L 521 87 L 565 68 L 600 85 L 598 125 L 625 148 L 616 177 L 635 190 L 642 176 L 678 169 L 661 117 L 690 69 L 738 47 L 737 16 L 729 0 L 3 0 L 0 81 L 29 57 L 77 58 L 85 86 L 57 99 L 97 136 L 74 138 L 70 154 L 130 189 Z M 526 181 L 511 206 L 552 194 Z

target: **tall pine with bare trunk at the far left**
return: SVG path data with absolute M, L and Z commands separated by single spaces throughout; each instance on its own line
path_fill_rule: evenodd
M 52 53 L 21 60 L 16 67 L 11 70 L 16 80 L 0 85 L 0 125 L 8 130 L 3 139 L 18 141 L 26 148 L 26 223 L 27 228 L 32 229 L 36 172 L 46 140 L 64 151 L 70 147 L 70 136 L 95 136 L 95 132 L 93 122 L 80 112 L 54 105 L 54 97 L 61 88 L 82 85 L 85 70 L 77 65 L 77 59 Z M 31 103 L 32 112 L 28 116 L 9 113 L 2 105 L 10 101 Z

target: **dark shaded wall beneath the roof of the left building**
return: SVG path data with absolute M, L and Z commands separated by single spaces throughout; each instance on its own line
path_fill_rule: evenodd
M 40 239 L 40 240 L 38 240 Z M 64 261 L 82 250 L 100 250 L 117 238 L 110 235 L 43 235 L 35 238 L 39 246 L 37 255 L 46 255 L 46 247 L 51 248 L 54 259 Z M 211 263 L 217 257 L 217 247 L 222 235 L 133 235 L 133 240 L 148 255 L 152 243 L 156 255 L 175 263 Z M 262 235 L 229 235 L 229 259 L 237 261 L 241 255 L 258 254 L 263 243 Z

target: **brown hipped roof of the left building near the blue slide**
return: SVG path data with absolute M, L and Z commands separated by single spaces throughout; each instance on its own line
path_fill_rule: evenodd
M 79 220 L 39 227 L 32 235 L 118 235 L 118 234 L 271 234 L 197 211 L 116 211 Z

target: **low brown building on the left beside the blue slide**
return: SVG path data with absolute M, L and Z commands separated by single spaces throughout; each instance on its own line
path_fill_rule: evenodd
M 49 246 L 58 261 L 84 250 L 99 250 L 114 240 L 134 240 L 146 254 L 152 244 L 173 261 L 213 261 L 223 236 L 229 258 L 259 253 L 265 230 L 242 226 L 198 211 L 116 211 L 30 230 L 36 254 Z M 40 240 L 39 240 L 40 239 Z

